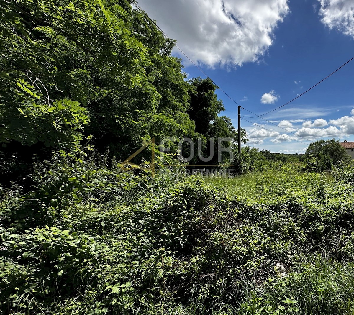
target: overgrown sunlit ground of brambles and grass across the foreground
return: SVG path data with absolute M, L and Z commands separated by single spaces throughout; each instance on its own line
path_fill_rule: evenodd
M 352 174 L 127 177 L 35 222 L 4 197 L 1 309 L 354 314 Z

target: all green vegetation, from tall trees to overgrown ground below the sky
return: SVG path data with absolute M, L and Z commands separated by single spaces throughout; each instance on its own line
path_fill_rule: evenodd
M 1 312 L 353 314 L 344 149 L 315 142 L 304 163 L 239 155 L 217 87 L 187 80 L 174 43 L 133 4 L 0 5 Z M 184 137 L 204 158 L 218 149 L 210 138 L 228 138 L 233 165 L 225 154 L 176 166 L 171 140 L 152 176 L 157 144 Z M 194 164 L 231 176 L 185 176 Z

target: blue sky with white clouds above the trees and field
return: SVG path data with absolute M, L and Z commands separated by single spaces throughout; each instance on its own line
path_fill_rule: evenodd
M 304 153 L 310 142 L 354 141 L 353 0 L 144 0 L 139 6 L 244 109 L 248 145 Z M 204 74 L 176 47 L 188 78 Z M 238 105 L 217 90 L 237 128 Z M 253 117 L 253 118 L 247 118 Z M 252 123 L 258 125 L 253 125 Z M 268 130 L 265 130 L 265 129 Z

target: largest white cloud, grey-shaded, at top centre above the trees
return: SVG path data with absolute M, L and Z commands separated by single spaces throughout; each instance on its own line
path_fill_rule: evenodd
M 287 2 L 145 0 L 140 5 L 193 61 L 236 67 L 267 52 L 274 29 L 289 12 Z

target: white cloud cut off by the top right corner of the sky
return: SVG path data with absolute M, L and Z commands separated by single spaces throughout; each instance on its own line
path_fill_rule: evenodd
M 353 0 L 319 0 L 321 22 L 330 29 L 337 29 L 354 37 Z

